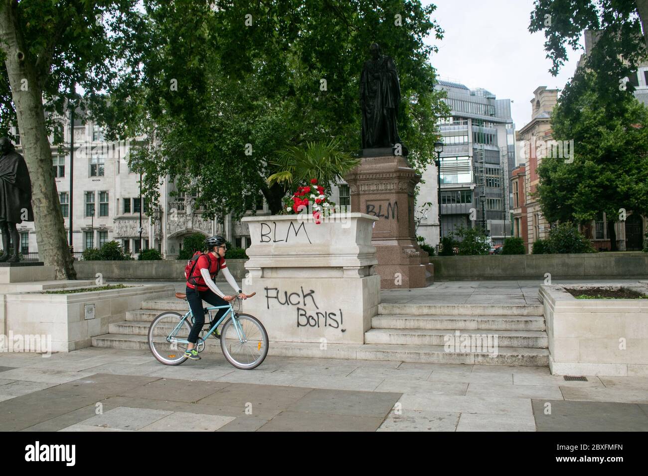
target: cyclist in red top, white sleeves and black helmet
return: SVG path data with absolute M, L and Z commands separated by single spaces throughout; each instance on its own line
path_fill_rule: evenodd
M 226 296 L 218 289 L 216 283 L 214 283 L 213 278 L 216 277 L 218 269 L 223 271 L 223 275 L 229 283 L 229 286 L 233 289 L 238 289 L 238 297 L 246 299 L 246 295 L 238 287 L 232 273 L 227 269 L 225 263 L 226 249 L 225 238 L 222 236 L 216 235 L 207 238 L 205 240 L 205 255 L 200 256 L 196 260 L 196 266 L 194 266 L 191 276 L 187 277 L 187 301 L 189 301 L 189 307 L 194 316 L 194 325 L 187 338 L 189 345 L 187 346 L 187 352 L 185 352 L 185 356 L 190 359 L 200 359 L 198 352 L 196 352 L 196 343 L 198 342 L 198 335 L 205 324 L 203 300 L 209 302 L 212 306 L 226 306 L 227 302 L 236 298 L 236 296 Z M 227 308 L 219 309 L 213 322 L 218 321 L 226 312 Z M 215 329 L 213 334 L 214 337 L 220 339 Z

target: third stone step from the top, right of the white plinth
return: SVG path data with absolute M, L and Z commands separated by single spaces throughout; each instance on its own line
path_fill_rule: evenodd
M 435 329 L 370 329 L 365 332 L 365 343 L 367 344 L 391 344 L 391 345 L 428 345 L 443 346 L 446 343 L 446 336 L 450 335 L 452 341 L 463 342 L 464 335 L 480 336 L 477 341 L 480 345 L 495 345 L 494 336 L 497 335 L 498 347 L 531 347 L 547 348 L 547 333 L 538 330 L 461 330 L 456 336 L 455 330 Z M 481 340 L 483 336 L 483 341 Z

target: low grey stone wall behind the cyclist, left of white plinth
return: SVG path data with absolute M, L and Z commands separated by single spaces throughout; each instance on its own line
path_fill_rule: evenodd
M 227 268 L 237 280 L 245 277 L 246 261 L 227 260 Z M 101 273 L 108 281 L 183 281 L 186 265 L 187 260 L 75 261 L 77 279 L 95 279 Z

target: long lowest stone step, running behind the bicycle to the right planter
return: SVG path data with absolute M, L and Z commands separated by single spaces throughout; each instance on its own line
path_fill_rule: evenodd
M 145 335 L 104 334 L 92 338 L 92 345 L 104 348 L 148 350 Z M 547 349 L 500 347 L 496 356 L 486 352 L 445 352 L 443 346 L 390 345 L 390 344 L 321 344 L 304 342 L 270 342 L 270 356 L 319 357 L 331 359 L 391 360 L 421 363 L 463 363 L 467 365 L 524 365 L 548 367 Z M 203 353 L 221 352 L 212 339 L 207 341 Z

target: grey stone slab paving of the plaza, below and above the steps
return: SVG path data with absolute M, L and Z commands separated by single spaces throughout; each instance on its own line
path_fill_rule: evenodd
M 440 282 L 381 299 L 537 304 L 538 284 Z M 202 357 L 168 367 L 143 350 L 1 353 L 0 431 L 648 431 L 648 376 L 272 355 L 237 370 Z

